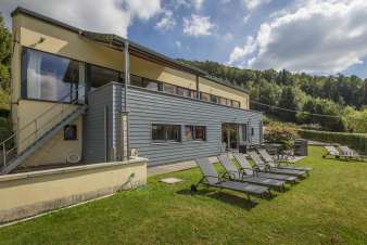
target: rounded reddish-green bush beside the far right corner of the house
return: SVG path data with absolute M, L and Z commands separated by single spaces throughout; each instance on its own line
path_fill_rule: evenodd
M 295 126 L 271 121 L 265 127 L 264 139 L 269 143 L 281 143 L 288 150 L 298 137 Z

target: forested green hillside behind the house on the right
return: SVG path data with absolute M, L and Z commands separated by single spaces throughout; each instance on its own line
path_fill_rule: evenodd
M 342 74 L 313 76 L 288 70 L 240 69 L 210 61 L 179 61 L 245 88 L 252 100 L 251 108 L 264 111 L 270 118 L 314 129 L 367 131 L 367 79 Z

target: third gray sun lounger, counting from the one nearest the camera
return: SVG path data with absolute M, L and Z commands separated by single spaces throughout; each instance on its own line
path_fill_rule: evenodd
M 241 169 L 243 169 L 243 171 L 249 176 L 255 175 L 261 178 L 282 180 L 288 183 L 295 183 L 295 181 L 298 180 L 295 176 L 284 176 L 284 175 L 276 175 L 276 173 L 270 173 L 270 172 L 258 171 L 260 169 L 253 168 L 243 154 L 233 154 L 233 156 L 237 163 L 241 166 Z

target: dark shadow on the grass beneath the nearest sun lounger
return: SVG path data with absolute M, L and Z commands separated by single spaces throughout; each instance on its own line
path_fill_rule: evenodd
M 191 190 L 180 190 L 177 192 L 177 194 L 180 195 L 202 195 L 207 196 L 237 207 L 240 207 L 242 209 L 245 209 L 250 211 L 252 208 L 256 207 L 258 203 L 254 202 L 253 199 L 248 199 L 245 195 L 243 196 L 237 196 L 233 194 L 229 194 L 223 191 L 217 190 L 210 190 L 210 189 L 200 189 L 197 192 L 192 192 Z

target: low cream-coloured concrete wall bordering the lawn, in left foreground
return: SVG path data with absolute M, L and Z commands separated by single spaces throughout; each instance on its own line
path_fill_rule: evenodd
M 143 158 L 0 176 L 0 223 L 145 183 Z

